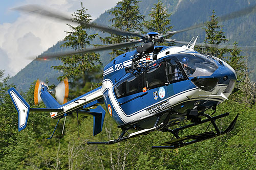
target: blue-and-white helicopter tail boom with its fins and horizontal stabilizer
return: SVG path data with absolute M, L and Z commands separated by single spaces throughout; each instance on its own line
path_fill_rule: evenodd
M 14 88 L 10 88 L 8 92 L 18 111 L 18 131 L 26 128 L 29 112 L 48 112 L 53 119 L 60 119 L 73 112 L 77 112 L 77 115 L 91 115 L 93 116 L 94 122 L 93 135 L 100 133 L 102 130 L 105 110 L 101 106 L 98 106 L 99 103 L 103 102 L 101 87 L 83 94 L 66 104 L 60 105 L 48 92 L 47 86 L 42 85 L 40 89 L 40 98 L 48 108 L 30 108 L 29 104 Z M 90 111 L 81 110 L 84 108 L 88 108 Z

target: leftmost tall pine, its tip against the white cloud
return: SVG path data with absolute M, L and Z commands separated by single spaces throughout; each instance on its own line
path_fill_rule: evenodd
M 66 31 L 68 34 L 61 46 L 63 47 L 71 47 L 74 50 L 82 50 L 87 46 L 91 45 L 90 41 L 92 41 L 97 34 L 89 35 L 86 29 L 90 29 L 87 25 L 83 23 L 90 23 L 92 19 L 90 19 L 91 15 L 86 14 L 87 9 L 82 6 L 81 9 L 77 10 L 71 18 L 72 21 L 78 22 L 79 25 L 74 27 L 70 24 L 67 24 L 71 31 Z M 72 55 L 69 57 L 59 58 L 63 65 L 53 66 L 54 69 L 59 71 L 63 71 L 63 76 L 59 77 L 59 80 L 68 77 L 68 79 L 80 79 L 82 80 L 82 84 L 85 84 L 87 81 L 87 72 L 93 72 L 99 69 L 102 64 L 99 59 L 99 54 L 88 53 L 88 54 L 80 54 L 80 55 Z

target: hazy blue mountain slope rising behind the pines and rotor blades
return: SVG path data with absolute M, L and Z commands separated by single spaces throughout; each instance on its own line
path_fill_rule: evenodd
M 149 18 L 148 14 L 154 7 L 154 4 L 156 4 L 157 2 L 157 0 L 141 0 L 139 4 L 140 12 L 145 16 L 145 19 Z M 171 25 L 174 26 L 173 30 L 184 29 L 193 26 L 197 23 L 207 21 L 209 19 L 209 16 L 212 14 L 212 10 L 216 11 L 217 16 L 222 16 L 255 4 L 253 0 L 162 0 L 162 2 L 163 5 L 166 7 L 166 10 L 169 13 L 172 13 L 170 19 Z M 99 18 L 95 20 L 95 22 L 100 23 L 101 25 L 111 26 L 112 23 L 109 20 L 112 17 L 113 16 L 111 16 L 107 11 L 105 11 L 103 14 L 99 16 Z M 254 30 L 256 29 L 255 21 L 256 15 L 250 14 L 247 16 L 222 22 L 221 25 L 224 26 L 223 31 L 225 32 L 225 36 L 226 38 L 230 39 L 230 42 L 228 42 L 228 44 L 232 44 L 234 41 L 237 41 L 238 45 L 256 45 L 256 34 L 254 33 Z M 90 34 L 98 33 L 101 37 L 109 35 L 107 33 L 95 31 L 93 29 L 91 29 L 89 32 Z M 205 38 L 204 30 L 201 28 L 190 30 L 184 33 L 174 35 L 173 38 L 182 41 L 190 41 L 190 39 L 195 36 L 199 36 L 198 42 L 203 42 Z M 59 51 L 60 44 L 61 42 L 49 48 L 48 52 Z M 101 44 L 101 41 L 99 40 L 99 38 L 97 38 L 92 42 L 92 44 Z M 111 56 L 109 55 L 109 52 L 110 51 L 100 52 L 103 65 L 106 65 L 110 61 Z M 247 52 L 247 55 L 250 56 L 249 68 L 256 70 L 256 59 L 255 57 L 253 57 L 253 54 L 253 52 Z M 33 82 L 37 78 L 42 80 L 48 78 L 50 82 L 54 82 L 56 84 L 56 78 L 61 74 L 50 67 L 52 65 L 58 64 L 61 63 L 59 61 L 33 61 L 24 69 L 19 71 L 16 76 L 11 78 L 9 83 L 13 83 L 17 85 L 18 89 L 22 88 L 23 90 L 28 89 L 31 82 Z M 251 78 L 253 81 L 255 81 L 256 74 L 251 74 Z

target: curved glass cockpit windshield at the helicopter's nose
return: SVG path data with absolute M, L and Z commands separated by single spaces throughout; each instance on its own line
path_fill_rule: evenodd
M 179 54 L 176 56 L 188 77 L 210 76 L 218 65 L 201 54 Z

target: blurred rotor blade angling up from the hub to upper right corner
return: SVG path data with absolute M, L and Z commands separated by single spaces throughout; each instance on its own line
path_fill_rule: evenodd
M 226 21 L 226 20 L 234 19 L 234 18 L 237 18 L 237 17 L 240 17 L 240 16 L 247 15 L 249 13 L 255 13 L 255 12 L 256 12 L 256 5 L 253 5 L 253 6 L 250 6 L 248 8 L 244 8 L 242 10 L 235 11 L 235 12 L 232 12 L 230 14 L 220 16 L 220 17 L 218 17 L 217 21 L 218 22 L 223 22 L 223 21 Z M 169 33 L 167 33 L 163 36 L 166 37 L 168 35 L 173 35 L 173 34 L 185 32 L 185 31 L 188 31 L 188 30 L 193 30 L 193 29 L 196 29 L 196 28 L 199 28 L 199 27 L 203 27 L 203 26 L 205 26 L 205 23 L 206 22 L 203 22 L 203 23 L 199 23 L 198 25 L 188 27 L 186 29 L 182 29 L 182 30 L 178 30 L 178 31 L 172 31 L 172 32 L 169 32 Z

